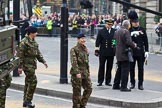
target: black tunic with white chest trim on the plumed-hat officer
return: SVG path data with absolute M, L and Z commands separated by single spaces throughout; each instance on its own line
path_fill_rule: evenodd
M 134 56 L 144 56 L 144 52 L 149 51 L 148 38 L 145 29 L 142 27 L 131 27 L 129 29 L 132 41 L 137 44 L 140 49 L 133 49 Z

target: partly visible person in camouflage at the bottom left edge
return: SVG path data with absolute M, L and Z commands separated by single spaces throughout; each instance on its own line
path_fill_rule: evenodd
M 0 80 L 0 108 L 5 108 L 6 91 L 10 87 L 11 80 L 10 74 Z

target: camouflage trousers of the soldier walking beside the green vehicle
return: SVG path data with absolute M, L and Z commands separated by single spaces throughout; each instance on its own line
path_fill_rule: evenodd
M 32 101 L 33 95 L 37 86 L 37 77 L 35 75 L 35 69 L 24 70 L 26 75 L 25 77 L 25 86 L 24 86 L 24 102 Z

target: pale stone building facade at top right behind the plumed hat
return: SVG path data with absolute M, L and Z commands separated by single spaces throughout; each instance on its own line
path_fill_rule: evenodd
M 137 6 L 141 6 L 157 12 L 162 12 L 162 0 L 130 0 L 130 2 Z M 113 6 L 114 6 L 113 13 L 120 13 L 120 14 L 123 13 L 123 11 L 121 11 L 122 10 L 121 4 L 113 3 Z M 149 32 L 154 32 L 154 27 L 156 25 L 154 18 L 156 15 L 141 11 L 139 9 L 135 10 L 138 13 L 138 16 L 141 16 L 143 13 L 146 14 L 146 29 Z

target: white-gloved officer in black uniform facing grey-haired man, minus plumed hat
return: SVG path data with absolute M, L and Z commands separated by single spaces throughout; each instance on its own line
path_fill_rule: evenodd
M 133 49 L 134 62 L 130 64 L 131 89 L 135 88 L 135 65 L 138 64 L 138 89 L 143 90 L 144 62 L 149 56 L 148 38 L 144 28 L 139 26 L 138 18 L 131 20 L 132 27 L 129 29 L 132 41 L 137 44 L 137 49 Z

